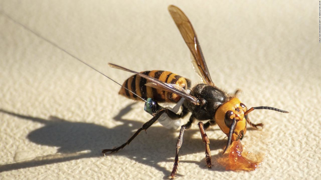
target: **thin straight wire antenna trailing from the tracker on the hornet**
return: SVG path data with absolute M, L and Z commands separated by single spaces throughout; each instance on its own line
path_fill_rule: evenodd
M 95 69 L 94 67 L 92 67 L 91 65 L 87 64 L 85 61 L 82 61 L 81 59 L 79 59 L 78 57 L 76 57 L 75 55 L 73 55 L 72 53 L 69 53 L 68 51 L 66 51 L 65 49 L 63 49 L 62 47 L 60 47 L 59 45 L 57 45 L 56 43 L 46 39 L 45 37 L 41 36 L 40 34 L 38 34 L 37 32 L 29 29 L 27 26 L 23 25 L 22 23 L 18 22 L 17 20 L 14 20 L 11 16 L 9 16 L 8 14 L 6 14 L 5 12 L 2 11 L 2 9 L 0 9 L 0 13 L 3 14 L 5 17 L 7 17 L 8 19 L 12 20 L 14 23 L 22 26 L 24 29 L 28 30 L 29 32 L 31 32 L 32 34 L 40 37 L 42 40 L 47 41 L 49 44 L 55 46 L 56 48 L 60 49 L 61 51 L 69 54 L 71 57 L 73 57 L 74 59 L 84 63 L 85 65 L 89 66 L 91 69 L 99 72 L 100 74 L 102 74 L 103 76 L 105 76 L 106 78 L 114 81 L 115 83 L 117 83 L 119 86 L 122 86 L 121 84 L 119 84 L 118 82 L 116 82 L 114 79 L 109 78 L 107 75 L 105 75 L 104 73 L 100 72 L 99 70 Z M 123 86 L 122 86 L 123 87 Z M 131 93 L 135 94 L 136 96 L 138 96 L 139 98 L 141 98 L 143 101 L 147 102 L 145 99 L 143 99 L 142 97 L 140 97 L 139 95 L 137 95 L 136 93 L 134 93 L 133 91 L 129 90 L 128 88 L 124 87 L 126 90 L 130 91 Z M 148 103 L 148 102 L 147 102 Z

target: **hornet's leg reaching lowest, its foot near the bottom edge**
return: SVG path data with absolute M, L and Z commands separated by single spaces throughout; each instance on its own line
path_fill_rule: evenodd
M 170 173 L 170 179 L 173 180 L 174 177 L 176 177 L 176 173 L 177 173 L 177 167 L 178 167 L 178 152 L 179 152 L 179 149 L 180 147 L 182 146 L 182 143 L 183 143 L 183 135 L 184 135 L 184 131 L 185 129 L 188 129 L 191 127 L 193 121 L 194 121 L 194 116 L 192 115 L 190 118 L 189 118 L 189 121 L 184 124 L 180 131 L 179 131 L 179 136 L 178 136 L 178 139 L 177 139 L 177 143 L 176 143 L 176 154 L 175 154 L 175 160 L 174 160 L 174 166 L 173 166 L 173 169 L 172 169 L 172 172 Z

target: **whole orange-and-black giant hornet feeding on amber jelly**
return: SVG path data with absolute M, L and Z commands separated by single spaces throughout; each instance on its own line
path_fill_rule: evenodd
M 102 153 L 106 155 L 107 152 L 113 153 L 124 148 L 142 130 L 146 130 L 152 126 L 152 124 L 155 123 L 164 113 L 168 116 L 167 119 L 165 118 L 165 121 L 167 121 L 166 123 L 169 123 L 169 121 L 182 118 L 186 116 L 188 112 L 191 112 L 192 115 L 190 116 L 189 121 L 180 128 L 176 144 L 174 166 L 170 174 L 170 178 L 174 179 L 178 167 L 178 151 L 183 142 L 184 131 L 191 127 L 195 119 L 200 121 L 207 120 L 205 124 L 203 124 L 203 122 L 199 122 L 198 127 L 201 132 L 202 140 L 205 143 L 206 165 L 208 168 L 211 168 L 213 165 L 211 162 L 209 138 L 205 133 L 207 128 L 217 124 L 223 133 L 227 135 L 228 142 L 223 151 L 224 154 L 231 142 L 241 140 L 244 137 L 247 123 L 255 128 L 263 126 L 261 123 L 251 123 L 248 118 L 249 112 L 255 109 L 276 110 L 284 113 L 288 113 L 288 111 L 267 106 L 247 109 L 247 107 L 236 97 L 236 93 L 229 95 L 216 87 L 209 74 L 209 70 L 206 66 L 201 47 L 191 22 L 188 20 L 184 12 L 182 12 L 178 7 L 170 5 L 168 10 L 187 47 L 192 53 L 193 65 L 198 75 L 202 78 L 203 84 L 197 84 L 196 86 L 191 87 L 191 83 L 187 78 L 183 78 L 169 71 L 153 70 L 136 72 L 108 63 L 109 66 L 113 68 L 135 74 L 124 82 L 119 94 L 130 99 L 142 99 L 145 101 L 144 109 L 148 113 L 152 114 L 153 118 L 144 123 L 143 126 L 138 129 L 126 143 L 114 149 L 104 149 L 102 150 Z M 171 108 L 161 107 L 157 102 L 174 102 L 178 103 L 179 106 L 182 103 L 182 112 L 177 114 L 177 112 L 173 111 Z M 175 127 L 175 125 L 169 125 L 168 127 Z

